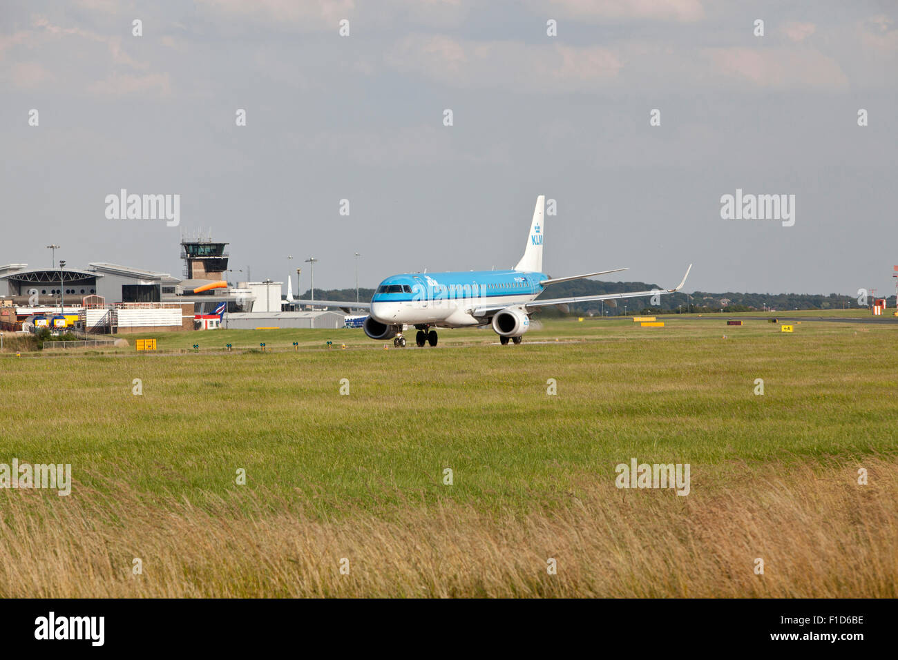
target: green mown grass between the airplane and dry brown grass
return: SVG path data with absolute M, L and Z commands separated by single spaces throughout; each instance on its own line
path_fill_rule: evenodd
M 70 462 L 85 486 L 200 504 L 244 468 L 246 488 L 330 515 L 405 497 L 527 510 L 630 457 L 689 462 L 700 483 L 735 464 L 894 454 L 898 328 L 659 320 L 543 321 L 519 347 L 488 330 L 389 350 L 361 330 L 211 330 L 160 333 L 156 355 L 128 336 L 104 355 L 4 356 L 0 462 Z

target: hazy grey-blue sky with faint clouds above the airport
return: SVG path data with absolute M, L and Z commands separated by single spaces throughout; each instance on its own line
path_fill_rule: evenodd
M 542 194 L 552 277 L 893 292 L 896 74 L 891 0 L 5 0 L 0 265 L 180 277 L 211 232 L 233 280 L 374 286 L 514 266 Z M 794 224 L 721 217 L 737 189 Z

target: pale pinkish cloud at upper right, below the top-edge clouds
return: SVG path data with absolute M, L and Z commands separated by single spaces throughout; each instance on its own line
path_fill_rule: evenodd
M 771 89 L 844 89 L 848 78 L 832 57 L 802 48 L 704 48 L 718 75 Z

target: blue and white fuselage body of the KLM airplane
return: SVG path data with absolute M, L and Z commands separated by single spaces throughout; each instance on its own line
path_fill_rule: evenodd
M 540 295 L 543 273 L 471 270 L 387 277 L 371 299 L 371 316 L 387 325 L 466 328 L 483 325 L 471 312 L 497 304 L 527 304 Z

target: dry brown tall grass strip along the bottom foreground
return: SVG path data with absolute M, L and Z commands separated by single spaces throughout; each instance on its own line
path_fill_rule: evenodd
M 688 497 L 602 480 L 498 516 L 409 503 L 322 520 L 242 489 L 202 508 L 124 487 L 4 490 L 0 595 L 895 597 L 898 461 L 862 464 L 867 486 L 857 465 L 693 470 Z

